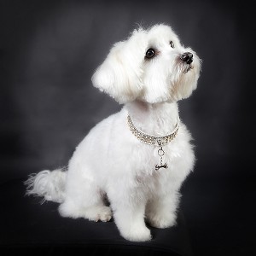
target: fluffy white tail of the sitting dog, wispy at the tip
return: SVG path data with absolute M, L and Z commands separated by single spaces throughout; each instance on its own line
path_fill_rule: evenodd
M 52 172 L 44 170 L 32 173 L 25 182 L 26 195 L 44 197 L 44 201 L 55 201 L 61 203 L 65 199 L 65 183 L 67 172 L 64 168 Z

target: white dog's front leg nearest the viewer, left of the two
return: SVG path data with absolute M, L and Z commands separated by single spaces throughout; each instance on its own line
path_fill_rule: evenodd
M 144 221 L 145 205 L 143 201 L 129 200 L 112 202 L 115 224 L 121 236 L 130 241 L 148 241 L 151 239 L 150 230 Z

